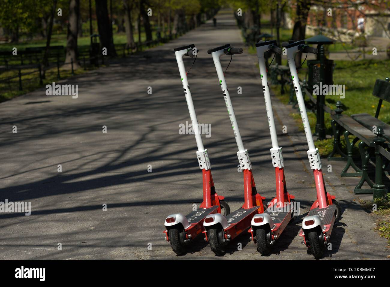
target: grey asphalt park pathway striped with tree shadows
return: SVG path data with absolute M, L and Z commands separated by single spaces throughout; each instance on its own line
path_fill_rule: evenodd
M 247 234 L 231 242 L 224 257 L 216 257 L 202 240 L 194 242 L 193 252 L 177 257 L 164 240 L 165 217 L 186 214 L 202 199 L 195 139 L 179 134 L 179 124 L 190 119 L 173 52 L 191 43 L 200 52 L 189 81 L 199 122 L 212 127 L 204 144 L 216 189 L 232 210 L 240 207 L 243 175 L 237 170 L 236 142 L 206 52 L 225 43 L 243 46 L 232 11 L 222 10 L 217 27 L 208 21 L 163 46 L 58 83 L 77 84 L 76 99 L 46 96 L 46 89 L 39 89 L 0 104 L 0 201 L 32 205 L 30 216 L 0 215 L 0 259 L 313 260 L 298 236 L 299 219 L 287 227 L 269 257 L 257 253 Z M 223 57 L 222 66 L 229 59 Z M 226 80 L 257 190 L 270 200 L 275 176 L 255 62 L 256 56 L 246 50 L 235 55 Z M 187 68 L 190 64 L 186 61 Z M 242 94 L 236 92 L 239 87 Z M 316 196 L 305 137 L 288 116 L 290 107 L 276 101 L 275 112 L 287 187 L 300 202 L 301 218 Z M 370 230 L 372 217 L 360 210 L 338 174 L 333 170 L 325 176 L 344 213 L 324 260 L 385 259 L 385 239 Z

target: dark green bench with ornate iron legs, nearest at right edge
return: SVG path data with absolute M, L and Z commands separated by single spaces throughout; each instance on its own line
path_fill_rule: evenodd
M 383 100 L 390 102 L 390 83 L 388 78 L 376 80 L 372 94 L 379 98 L 379 103 L 375 116 L 370 114 L 355 114 L 351 117 L 342 115 L 342 103 L 337 102 L 337 109 L 330 112 L 333 130 L 333 151 L 328 160 L 346 160 L 347 164 L 341 172 L 341 176 L 362 176 L 358 185 L 354 189 L 355 194 L 374 194 L 374 198 L 382 197 L 386 189 L 382 184 L 383 171 L 389 163 L 390 152 L 390 126 L 378 119 Z M 342 152 L 340 146 L 340 135 L 344 131 L 347 154 Z M 355 139 L 350 141 L 349 135 L 355 135 Z M 358 144 L 362 168 L 358 168 L 353 160 L 353 147 Z M 368 175 L 368 163 L 375 154 L 376 180 L 372 182 Z M 341 157 L 334 157 L 335 154 Z M 385 159 L 385 160 L 384 160 Z M 383 164 L 385 162 L 385 164 Z M 355 172 L 348 172 L 353 168 Z M 362 185 L 367 182 L 370 189 L 363 189 Z M 380 188 L 379 188 L 379 187 Z

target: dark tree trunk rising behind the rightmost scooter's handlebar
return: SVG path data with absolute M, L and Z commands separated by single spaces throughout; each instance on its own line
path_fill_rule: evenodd
M 296 7 L 296 21 L 293 28 L 293 40 L 299 41 L 305 39 L 305 30 L 307 17 L 310 10 L 310 0 L 299 0 Z M 298 52 L 295 55 L 295 64 L 299 68 L 301 66 L 302 53 Z

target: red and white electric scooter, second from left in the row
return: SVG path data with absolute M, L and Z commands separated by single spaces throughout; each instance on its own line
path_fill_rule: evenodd
M 210 243 L 211 250 L 216 255 L 224 255 L 227 243 L 233 240 L 237 235 L 245 232 L 250 228 L 250 221 L 257 213 L 264 211 L 262 200 L 264 197 L 256 191 L 255 181 L 252 175 L 252 164 L 250 162 L 248 150 L 245 150 L 241 134 L 239 132 L 238 123 L 234 114 L 232 102 L 230 100 L 229 91 L 225 82 L 225 75 L 222 71 L 220 57 L 222 55 L 233 55 L 243 53 L 241 48 L 232 48 L 229 44 L 210 49 L 207 53 L 213 56 L 213 61 L 218 74 L 219 83 L 222 89 L 223 98 L 227 112 L 229 114 L 230 123 L 236 137 L 238 146 L 238 161 L 244 174 L 244 204 L 243 206 L 231 212 L 228 216 L 222 214 L 210 214 L 206 216 L 203 222 L 205 228 L 204 234 L 206 241 Z M 231 60 L 230 60 L 231 61 Z

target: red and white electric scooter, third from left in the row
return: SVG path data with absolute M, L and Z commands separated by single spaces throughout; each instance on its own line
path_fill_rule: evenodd
M 271 135 L 271 159 L 272 165 L 275 167 L 276 197 L 268 203 L 267 210 L 264 210 L 264 213 L 255 214 L 251 222 L 252 228 L 248 232 L 251 233 L 250 239 L 257 243 L 257 251 L 261 255 L 267 255 L 271 252 L 271 246 L 275 244 L 287 224 L 293 221 L 296 211 L 294 210 L 294 196 L 287 192 L 284 177 L 283 153 L 282 148 L 278 144 L 271 95 L 269 94 L 267 68 L 264 60 L 265 52 L 271 51 L 275 54 L 280 54 L 282 53 L 282 49 L 276 45 L 275 40 L 260 40 L 256 44 L 256 50 L 268 117 L 269 134 Z

